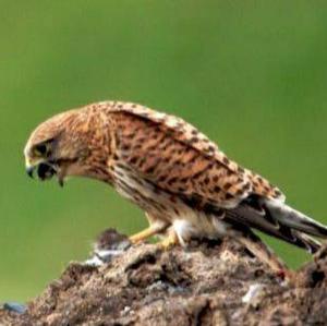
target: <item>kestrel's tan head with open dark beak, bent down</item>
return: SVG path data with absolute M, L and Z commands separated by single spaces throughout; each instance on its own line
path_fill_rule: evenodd
M 24 149 L 26 172 L 40 180 L 58 177 L 63 185 L 65 177 L 87 176 L 100 142 L 94 136 L 98 114 L 88 108 L 71 110 L 50 118 L 39 124 L 31 134 Z M 104 152 L 104 150 L 102 150 Z M 106 152 L 106 150 L 105 150 Z

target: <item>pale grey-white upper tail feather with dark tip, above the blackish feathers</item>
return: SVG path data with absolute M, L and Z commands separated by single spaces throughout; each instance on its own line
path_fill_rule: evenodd
M 300 234 L 302 232 L 302 236 L 305 233 L 318 238 L 327 238 L 326 226 L 287 204 L 279 201 L 265 200 L 263 205 L 279 224 L 300 231 Z

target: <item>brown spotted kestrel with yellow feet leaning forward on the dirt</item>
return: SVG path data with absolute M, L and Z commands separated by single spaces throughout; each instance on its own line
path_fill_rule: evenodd
M 130 239 L 156 234 L 160 245 L 193 238 L 228 237 L 274 270 L 286 265 L 254 229 L 315 253 L 327 227 L 291 208 L 281 191 L 229 159 L 196 128 L 144 106 L 101 101 L 39 124 L 24 149 L 26 170 L 40 180 L 94 178 L 138 205 L 149 227 Z

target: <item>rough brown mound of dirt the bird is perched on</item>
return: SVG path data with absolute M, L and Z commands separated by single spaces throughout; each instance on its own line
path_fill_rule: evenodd
M 107 230 L 0 325 L 326 325 L 326 247 L 288 283 L 230 240 L 162 251 Z

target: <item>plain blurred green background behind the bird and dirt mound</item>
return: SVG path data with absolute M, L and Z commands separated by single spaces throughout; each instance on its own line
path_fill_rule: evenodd
M 105 228 L 146 225 L 105 184 L 71 180 L 62 190 L 25 176 L 22 150 L 36 124 L 92 101 L 185 118 L 327 222 L 323 3 L 1 1 L 0 301 L 37 295 Z M 308 259 L 268 241 L 293 267 Z

